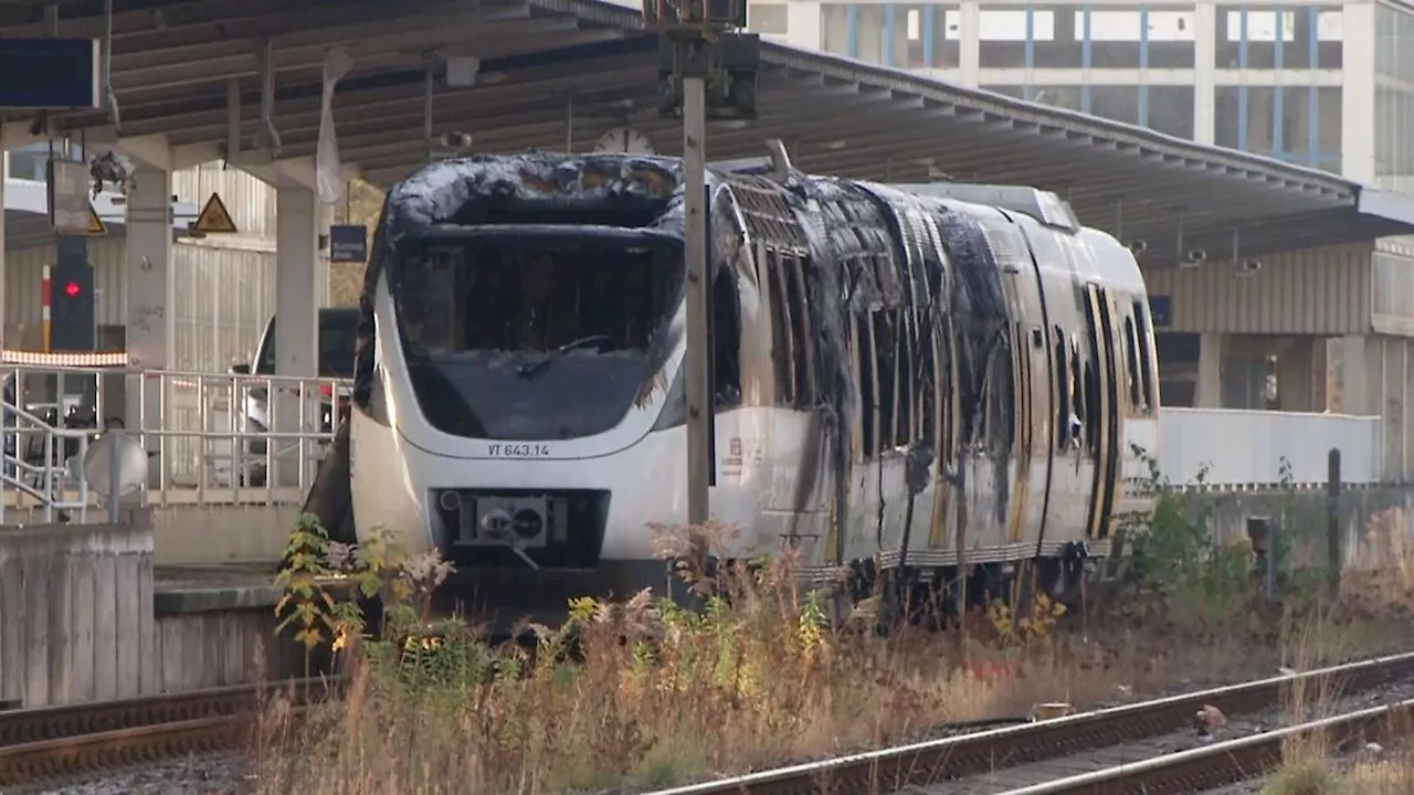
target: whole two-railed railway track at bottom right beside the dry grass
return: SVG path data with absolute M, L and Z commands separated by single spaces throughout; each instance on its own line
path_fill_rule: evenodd
M 1000 771 L 1185 730 L 1192 731 L 1195 714 L 1208 706 L 1229 717 L 1260 714 L 1280 709 L 1290 693 L 1301 692 L 1298 687 L 1305 687 L 1304 692 L 1312 695 L 1335 689 L 1349 696 L 1411 679 L 1414 679 L 1414 654 L 1393 655 L 1053 720 L 768 770 L 663 789 L 652 795 L 978 792 L 980 789 L 974 788 L 976 782 Z M 1322 721 L 1263 731 L 1179 753 L 1158 751 L 1161 755 L 1151 755 L 1143 761 L 1127 761 L 1065 778 L 1060 778 L 1065 775 L 1060 772 L 1063 768 L 1056 768 L 1049 782 L 1010 791 L 991 787 L 988 791 L 1005 795 L 1195 792 L 1243 781 L 1271 768 L 1281 760 L 1282 741 L 1301 733 L 1332 731 L 1336 741 L 1350 741 L 1363 736 L 1406 733 L 1406 727 L 1414 727 L 1414 700 L 1352 710 Z

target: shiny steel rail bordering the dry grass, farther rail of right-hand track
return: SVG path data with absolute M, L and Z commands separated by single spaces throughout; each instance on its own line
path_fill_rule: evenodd
M 960 734 L 734 778 L 662 789 L 649 795 L 816 795 L 896 792 L 966 775 L 993 772 L 1093 751 L 1144 737 L 1191 729 L 1195 714 L 1213 706 L 1229 716 L 1278 707 L 1297 687 L 1329 683 L 1343 692 L 1370 690 L 1414 678 L 1414 654 L 1335 665 L 1198 693 L 1169 696 L 1044 720 Z M 1109 791 L 1106 791 L 1109 792 Z

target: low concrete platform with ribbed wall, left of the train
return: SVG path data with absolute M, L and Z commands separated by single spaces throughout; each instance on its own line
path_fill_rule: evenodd
M 42 707 L 327 669 L 277 632 L 274 567 L 154 566 L 141 525 L 0 525 L 0 704 Z

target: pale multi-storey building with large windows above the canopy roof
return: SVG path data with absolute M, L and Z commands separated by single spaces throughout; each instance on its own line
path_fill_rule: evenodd
M 1366 181 L 1414 171 L 1394 146 L 1401 132 L 1414 132 L 1414 119 L 1406 120 L 1414 106 L 1401 105 L 1414 99 L 1414 75 L 1403 72 L 1414 69 L 1410 10 L 758 1 L 751 13 L 754 30 L 797 47 Z

